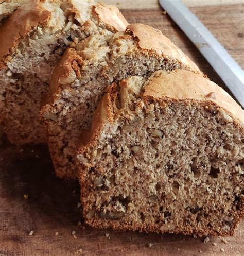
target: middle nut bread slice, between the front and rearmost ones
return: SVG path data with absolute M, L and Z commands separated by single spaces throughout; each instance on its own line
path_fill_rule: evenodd
M 81 131 L 90 128 L 108 83 L 176 68 L 200 72 L 161 31 L 143 24 L 114 35 L 92 35 L 66 50 L 41 110 L 56 174 L 77 177 L 77 142 Z

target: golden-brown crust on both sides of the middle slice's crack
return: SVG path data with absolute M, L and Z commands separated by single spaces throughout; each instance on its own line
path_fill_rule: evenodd
M 197 65 L 190 60 L 175 44 L 173 44 L 163 33 L 150 26 L 143 24 L 131 24 L 127 26 L 126 32 L 119 34 L 116 41 L 123 44 L 125 40 L 134 40 L 137 42 L 138 52 L 143 52 L 148 56 L 159 56 L 164 59 L 174 59 L 183 64 L 187 69 L 202 74 Z M 134 49 L 133 49 L 134 50 Z M 67 49 L 64 56 L 57 65 L 53 77 L 50 81 L 50 87 L 47 97 L 43 101 L 43 105 L 53 103 L 55 94 L 62 84 L 61 80 L 71 79 L 71 82 L 76 78 L 76 70 L 74 70 L 73 62 L 79 60 L 82 63 L 82 57 L 76 49 Z M 69 83 L 71 83 L 69 82 Z

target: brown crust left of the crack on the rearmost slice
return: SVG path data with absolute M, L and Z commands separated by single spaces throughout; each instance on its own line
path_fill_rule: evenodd
M 25 37 L 32 27 L 46 23 L 51 17 L 51 12 L 44 10 L 40 0 L 31 1 L 21 6 L 0 28 L 0 68 L 5 67 L 9 55 Z

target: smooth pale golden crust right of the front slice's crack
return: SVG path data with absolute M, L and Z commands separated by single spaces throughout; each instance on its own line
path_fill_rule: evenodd
M 145 87 L 143 97 L 175 100 L 199 100 L 214 103 L 244 123 L 244 111 L 236 101 L 216 83 L 204 77 L 186 71 L 158 72 Z

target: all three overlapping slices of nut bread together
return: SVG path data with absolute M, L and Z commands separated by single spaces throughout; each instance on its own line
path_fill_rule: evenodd
M 79 178 L 86 223 L 234 233 L 244 121 L 230 95 L 162 32 L 129 25 L 114 6 L 0 8 L 0 122 L 14 144 L 47 142 L 58 177 Z

